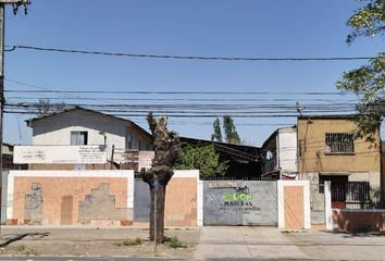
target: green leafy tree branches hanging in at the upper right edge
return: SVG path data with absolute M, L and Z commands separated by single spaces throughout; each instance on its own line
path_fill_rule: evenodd
M 363 7 L 355 11 L 347 24 L 352 28 L 346 41 L 350 45 L 357 37 L 383 36 L 385 33 L 384 0 L 362 0 Z M 378 121 L 385 113 L 385 53 L 380 52 L 368 64 L 343 74 L 338 89 L 356 94 L 358 105 L 358 136 L 374 140 Z

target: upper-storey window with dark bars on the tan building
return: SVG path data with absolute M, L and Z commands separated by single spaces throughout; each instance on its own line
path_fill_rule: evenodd
M 325 134 L 326 153 L 353 153 L 355 137 L 348 133 Z

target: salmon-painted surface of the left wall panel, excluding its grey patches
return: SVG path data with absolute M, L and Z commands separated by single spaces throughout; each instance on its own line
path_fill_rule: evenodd
M 41 185 L 42 224 L 59 225 L 71 216 L 73 225 L 78 224 L 79 201 L 100 184 L 110 184 L 110 195 L 115 197 L 116 208 L 127 208 L 127 178 L 119 177 L 15 177 L 13 192 L 13 220 L 25 221 L 25 196 L 32 194 L 32 184 Z M 63 204 L 63 200 L 72 197 L 72 203 Z M 65 210 L 66 213 L 62 213 Z M 69 213 L 70 212 L 70 213 Z M 129 217 L 129 216 L 127 216 Z M 132 216 L 131 216 L 132 220 Z M 119 221 L 121 222 L 121 221 Z

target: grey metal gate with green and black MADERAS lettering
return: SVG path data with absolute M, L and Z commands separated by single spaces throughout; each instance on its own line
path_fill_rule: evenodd
M 277 185 L 268 181 L 204 181 L 204 225 L 277 226 Z

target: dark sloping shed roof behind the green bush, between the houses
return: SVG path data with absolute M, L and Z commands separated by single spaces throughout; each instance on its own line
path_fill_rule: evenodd
M 227 144 L 220 142 L 207 139 L 196 139 L 196 138 L 187 138 L 181 137 L 183 142 L 189 145 L 213 145 L 215 150 L 221 151 L 224 154 L 235 157 L 237 159 L 243 159 L 247 161 L 258 161 L 258 156 L 260 153 L 261 148 L 248 145 L 236 145 L 236 144 Z

